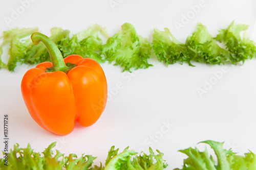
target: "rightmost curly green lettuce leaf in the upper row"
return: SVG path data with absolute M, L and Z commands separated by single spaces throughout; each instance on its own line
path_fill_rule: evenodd
M 230 62 L 237 64 L 256 56 L 255 42 L 249 39 L 247 34 L 248 25 L 234 25 L 234 21 L 227 29 L 222 29 L 215 39 L 223 42 L 227 50 L 230 52 Z M 240 34 L 244 31 L 243 38 Z

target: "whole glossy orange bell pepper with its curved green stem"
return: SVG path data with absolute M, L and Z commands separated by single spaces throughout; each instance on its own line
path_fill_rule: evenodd
M 34 44 L 44 42 L 52 62 L 29 69 L 22 80 L 22 96 L 35 122 L 45 130 L 67 135 L 75 127 L 93 125 L 104 111 L 107 83 L 101 66 L 93 59 L 71 55 L 62 58 L 55 43 L 34 33 Z M 76 64 L 70 68 L 66 63 Z M 46 72 L 53 67 L 52 72 Z

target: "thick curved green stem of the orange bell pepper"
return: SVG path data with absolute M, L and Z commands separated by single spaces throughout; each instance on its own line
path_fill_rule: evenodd
M 44 34 L 35 32 L 31 35 L 32 42 L 37 45 L 40 41 L 42 41 L 50 54 L 52 64 L 53 64 L 53 71 L 67 71 L 70 69 L 65 62 L 64 59 L 59 51 L 57 45 Z

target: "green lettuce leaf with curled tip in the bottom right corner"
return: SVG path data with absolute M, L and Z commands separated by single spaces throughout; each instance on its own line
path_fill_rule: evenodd
M 204 152 L 200 152 L 197 148 L 188 148 L 180 150 L 180 152 L 188 156 L 184 159 L 182 169 L 175 170 L 254 170 L 256 169 L 256 156 L 252 152 L 246 153 L 245 156 L 236 155 L 231 150 L 223 149 L 224 142 L 216 142 L 212 140 L 203 141 L 214 150 L 217 161 L 208 154 L 205 148 Z

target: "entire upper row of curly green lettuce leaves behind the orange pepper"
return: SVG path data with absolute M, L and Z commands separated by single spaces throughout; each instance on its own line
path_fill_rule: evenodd
M 153 40 L 150 43 L 146 38 L 138 35 L 131 23 L 124 23 L 121 30 L 110 37 L 104 28 L 92 25 L 70 37 L 69 30 L 52 28 L 50 38 L 57 44 L 63 57 L 72 54 L 84 58 L 95 59 L 99 63 L 108 61 L 119 65 L 123 71 L 132 69 L 148 68 L 153 66 L 148 63 L 152 57 L 152 51 L 159 61 L 166 65 L 191 62 L 207 64 L 238 64 L 252 59 L 256 55 L 255 42 L 249 39 L 247 33 L 248 25 L 232 22 L 227 29 L 222 29 L 214 38 L 207 28 L 198 23 L 196 31 L 188 36 L 185 43 L 178 41 L 170 31 L 154 29 Z M 4 31 L 3 43 L 0 45 L 0 68 L 8 68 L 14 71 L 17 63 L 38 64 L 50 61 L 47 48 L 42 43 L 34 45 L 28 36 L 37 32 L 38 28 L 12 29 Z M 98 33 L 107 40 L 102 43 Z M 241 33 L 243 37 L 241 37 Z M 27 37 L 27 38 L 25 38 Z M 224 44 L 224 48 L 219 43 Z M 1 61 L 3 45 L 10 44 L 10 58 L 7 64 Z

